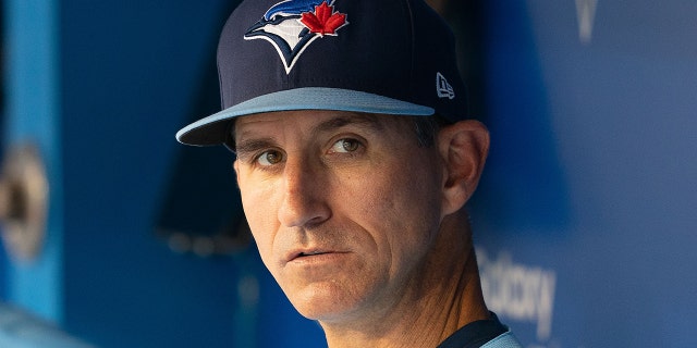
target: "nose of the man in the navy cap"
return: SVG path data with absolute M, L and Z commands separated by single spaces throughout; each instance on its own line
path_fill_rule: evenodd
M 326 173 L 308 161 L 289 160 L 283 172 L 279 221 L 288 227 L 317 225 L 331 216 L 327 204 Z

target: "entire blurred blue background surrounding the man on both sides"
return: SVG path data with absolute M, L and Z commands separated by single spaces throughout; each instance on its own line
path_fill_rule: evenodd
M 232 156 L 174 140 L 220 108 L 237 1 L 1 2 L 0 347 L 323 346 Z M 697 346 L 697 2 L 431 4 L 492 135 L 491 309 L 530 348 Z

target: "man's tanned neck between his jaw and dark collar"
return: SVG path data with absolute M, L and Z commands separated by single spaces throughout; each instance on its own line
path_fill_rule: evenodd
M 329 347 L 432 348 L 457 328 L 488 319 L 469 225 L 461 219 L 466 216 L 443 221 L 426 266 L 413 276 L 419 284 L 395 294 L 390 310 L 353 321 L 320 322 Z

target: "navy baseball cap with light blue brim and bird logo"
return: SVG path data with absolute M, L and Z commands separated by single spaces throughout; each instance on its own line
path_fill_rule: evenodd
M 423 0 L 245 0 L 218 45 L 222 111 L 176 139 L 225 144 L 234 117 L 271 111 L 464 120 L 454 42 Z

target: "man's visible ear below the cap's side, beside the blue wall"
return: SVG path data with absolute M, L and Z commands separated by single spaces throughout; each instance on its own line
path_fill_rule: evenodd
M 443 216 L 465 206 L 474 194 L 489 153 L 489 130 L 478 121 L 466 120 L 438 133 L 443 165 Z

